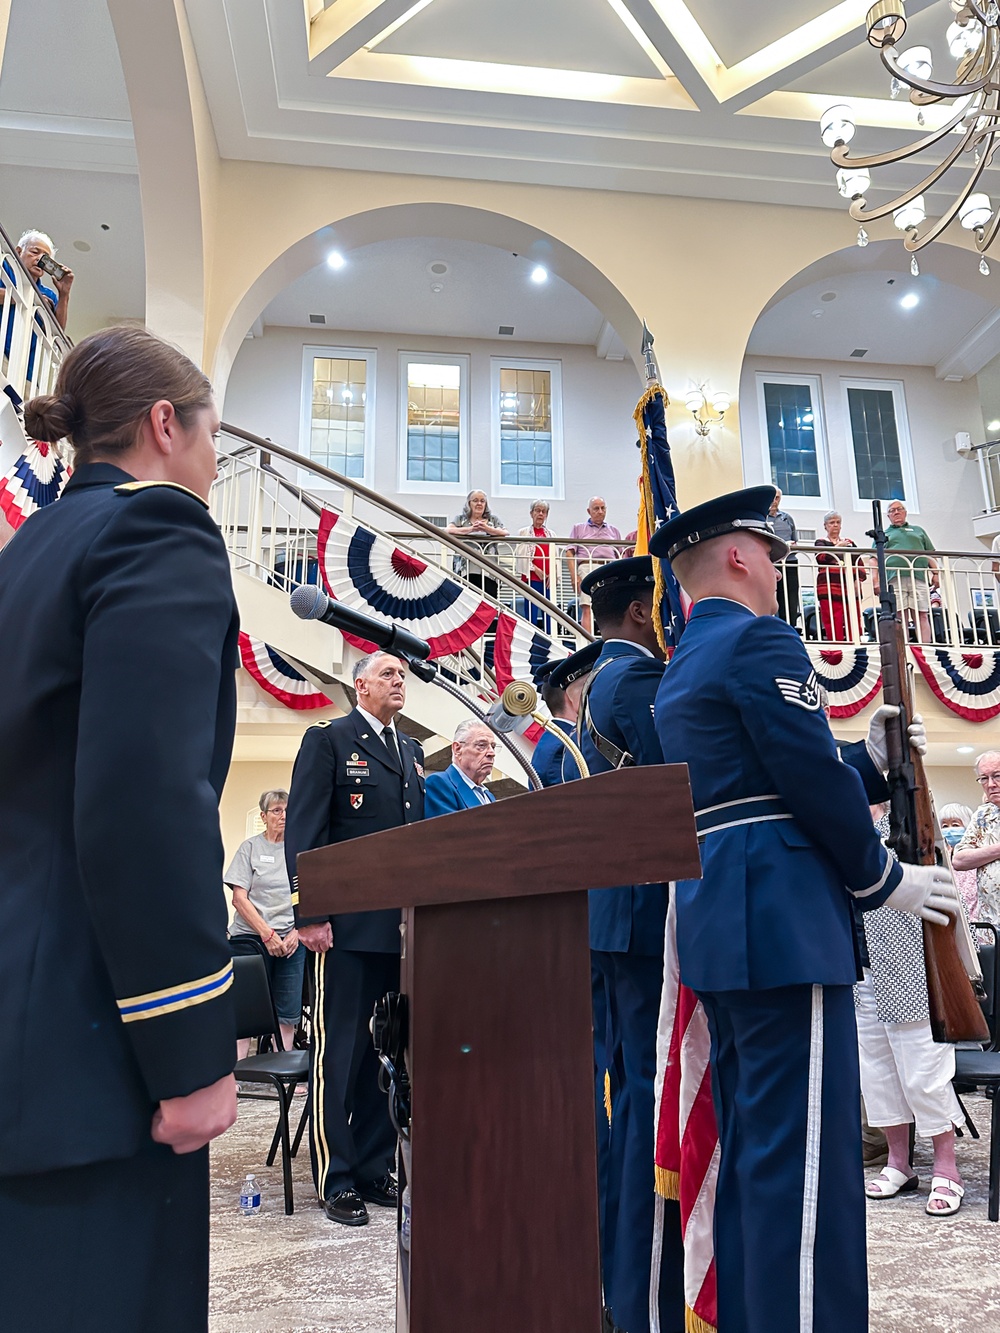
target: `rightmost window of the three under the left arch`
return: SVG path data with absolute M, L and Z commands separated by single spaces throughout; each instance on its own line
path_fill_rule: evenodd
M 492 372 L 493 493 L 561 496 L 560 363 L 495 357 Z

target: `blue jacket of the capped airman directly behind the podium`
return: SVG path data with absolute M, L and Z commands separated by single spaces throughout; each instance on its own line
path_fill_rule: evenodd
M 604 665 L 604 664 L 608 665 Z M 632 754 L 636 764 L 663 764 L 653 726 L 653 702 L 665 665 L 636 644 L 612 639 L 593 664 L 589 690 L 593 724 L 601 736 Z M 584 728 L 580 745 L 591 773 L 607 773 L 611 764 Z M 649 812 L 655 818 L 655 812 Z M 611 833 L 612 830 L 605 830 Z M 583 830 L 580 830 L 583 836 Z M 605 953 L 663 954 L 667 924 L 667 888 L 636 884 L 617 889 L 591 889 L 591 948 Z

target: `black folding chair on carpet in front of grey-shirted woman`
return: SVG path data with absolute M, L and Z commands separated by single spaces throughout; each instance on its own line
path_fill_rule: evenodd
M 288 1112 L 296 1085 L 309 1077 L 308 1050 L 285 1050 L 281 1044 L 281 1028 L 275 1013 L 264 960 L 256 956 L 235 957 L 233 962 L 233 1002 L 236 1005 L 236 1036 L 271 1037 L 273 1050 L 247 1056 L 236 1061 L 233 1073 L 241 1084 L 271 1084 L 277 1090 L 277 1126 L 271 1140 L 267 1156 L 268 1166 L 273 1165 L 279 1142 L 281 1144 L 281 1177 L 285 1193 L 285 1213 L 295 1212 L 292 1200 L 292 1158 L 299 1152 L 303 1130 L 309 1114 L 308 1101 L 303 1109 L 295 1144 L 291 1142 Z M 240 1093 L 251 1101 L 263 1101 L 259 1093 Z M 268 1097 L 268 1101 L 272 1098 Z

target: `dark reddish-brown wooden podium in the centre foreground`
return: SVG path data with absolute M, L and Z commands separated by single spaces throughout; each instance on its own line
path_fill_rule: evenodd
M 397 1333 L 600 1333 L 587 889 L 700 873 L 684 765 L 299 856 L 304 916 L 404 913 L 412 1234 Z

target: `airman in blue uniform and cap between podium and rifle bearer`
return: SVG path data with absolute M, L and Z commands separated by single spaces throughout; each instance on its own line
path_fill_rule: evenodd
M 653 701 L 664 660 L 653 628 L 652 560 L 636 556 L 611 561 L 592 571 L 580 587 L 592 599 L 603 635 L 581 702 L 580 748 L 587 765 L 592 773 L 604 773 L 633 764 L 661 764 Z M 656 813 L 651 810 L 649 817 Z M 591 890 L 589 910 L 591 958 L 604 976 L 623 1061 L 623 1086 L 611 1124 L 608 1198 L 601 1206 L 615 1232 L 603 1244 L 604 1296 L 619 1329 L 648 1333 L 653 1080 L 667 886 Z M 680 1213 L 673 1202 L 667 1205 L 659 1305 L 661 1333 L 683 1333 L 683 1250 Z

